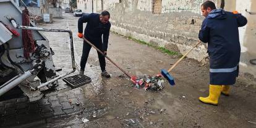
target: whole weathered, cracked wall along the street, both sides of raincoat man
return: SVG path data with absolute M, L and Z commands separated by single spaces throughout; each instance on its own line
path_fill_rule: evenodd
M 184 54 L 198 41 L 198 31 L 204 19 L 200 5 L 206 0 L 92 1 L 96 4 L 93 12 L 107 10 L 111 13 L 113 32 Z M 240 65 L 242 72 L 256 76 L 256 68 L 249 62 L 256 58 L 256 15 L 245 12 L 245 9 L 256 12 L 256 1 L 212 1 L 217 7 L 222 5 L 226 11 L 236 10 L 247 17 L 248 24 L 239 28 L 242 47 Z M 207 56 L 207 44 L 198 46 L 188 55 L 189 58 L 202 62 L 207 62 Z

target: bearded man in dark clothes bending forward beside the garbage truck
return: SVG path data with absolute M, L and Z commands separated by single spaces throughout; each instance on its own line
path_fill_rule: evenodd
M 108 38 L 109 38 L 109 30 L 111 27 L 111 23 L 109 22 L 110 14 L 108 11 L 103 11 L 101 14 L 88 14 L 83 15 L 78 20 L 78 35 L 79 38 L 83 36 L 90 42 L 93 43 L 98 49 L 103 51 L 103 53 L 107 53 L 108 49 Z M 85 27 L 85 32 L 83 35 L 83 23 L 87 23 Z M 103 40 L 102 40 L 103 35 Z M 84 74 L 85 64 L 88 59 L 88 55 L 90 53 L 90 46 L 88 43 L 83 41 L 83 53 L 80 62 L 80 74 Z M 105 56 L 98 52 L 98 58 L 100 61 L 101 75 L 109 78 L 110 75 L 106 72 L 106 60 Z

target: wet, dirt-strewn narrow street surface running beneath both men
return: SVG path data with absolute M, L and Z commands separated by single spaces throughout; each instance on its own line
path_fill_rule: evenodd
M 80 69 L 83 43 L 82 39 L 77 37 L 79 17 L 63 13 L 63 18 L 54 19 L 53 23 L 38 27 L 72 30 L 75 61 L 77 69 Z M 56 68 L 62 68 L 58 74 L 71 70 L 68 35 L 48 32 L 43 34 L 48 38 L 55 53 L 53 60 Z M 138 76 L 158 74 L 161 69 L 169 69 L 179 59 L 114 33 L 109 36 L 108 56 L 130 74 Z M 106 69 L 111 74 L 110 79 L 101 78 L 98 55 L 92 48 L 85 70 L 85 74 L 92 77 L 92 83 L 45 98 L 46 101 L 51 101 L 53 96 L 59 99 L 62 96 L 69 98 L 74 93 L 73 99 L 78 99 L 82 108 L 76 111 L 74 105 L 71 107 L 74 110 L 69 113 L 60 112 L 61 114 L 56 114 L 58 110 L 54 109 L 52 116 L 43 117 L 35 124 L 26 122 L 23 127 L 199 128 L 226 127 L 226 124 L 229 127 L 256 127 L 255 85 L 239 78 L 231 88 L 230 96 L 220 96 L 218 106 L 200 103 L 198 97 L 208 95 L 209 68 L 192 59 L 185 59 L 173 70 L 176 85 L 170 86 L 165 80 L 164 89 L 160 92 L 135 89 L 132 82 L 109 61 Z M 78 71 L 75 74 L 78 74 Z M 60 87 L 61 84 L 65 83 L 59 80 Z M 57 107 L 63 109 L 61 106 Z

